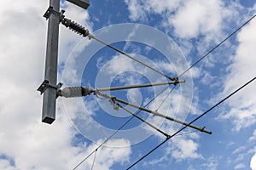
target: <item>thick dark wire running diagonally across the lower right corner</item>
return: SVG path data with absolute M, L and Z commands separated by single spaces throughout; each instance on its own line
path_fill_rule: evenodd
M 245 83 L 244 85 L 242 85 L 240 88 L 236 89 L 236 91 L 234 91 L 233 93 L 231 93 L 230 95 L 228 95 L 227 97 L 225 97 L 224 99 L 222 99 L 221 101 L 219 101 L 216 105 L 213 105 L 210 109 L 208 109 L 207 111 L 205 111 L 204 113 L 202 113 L 200 116 L 197 116 L 193 121 L 189 122 L 188 125 L 180 128 L 176 133 L 173 133 L 172 136 L 170 136 L 169 138 L 166 138 L 166 140 L 164 140 L 162 143 L 158 144 L 156 147 L 154 147 L 153 150 L 150 150 L 146 155 L 144 155 L 143 157 L 141 157 L 138 161 L 134 162 L 130 167 L 128 167 L 126 170 L 131 169 L 131 167 L 134 167 L 138 162 L 142 161 L 145 157 L 147 157 L 149 154 L 151 154 L 152 152 L 154 152 L 154 150 L 157 150 L 162 144 L 165 144 L 169 139 L 172 139 L 172 137 L 174 137 L 175 135 L 177 135 L 177 133 L 180 133 L 181 131 L 183 131 L 183 129 L 185 129 L 186 127 L 188 127 L 190 124 L 192 124 L 193 122 L 197 121 L 198 119 L 200 119 L 202 116 L 205 116 L 209 111 L 212 111 L 212 109 L 214 109 L 215 107 L 217 107 L 218 105 L 220 105 L 221 103 L 223 103 L 226 99 L 229 99 L 232 95 L 236 94 L 238 91 L 240 91 L 242 88 L 246 87 L 249 83 L 253 82 L 256 79 L 256 77 L 254 77 L 253 79 L 251 79 L 250 81 L 248 81 L 247 83 Z

